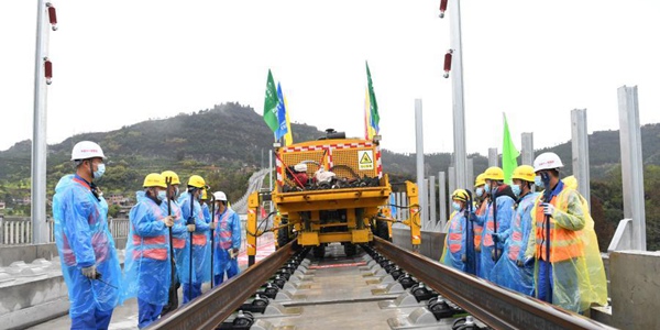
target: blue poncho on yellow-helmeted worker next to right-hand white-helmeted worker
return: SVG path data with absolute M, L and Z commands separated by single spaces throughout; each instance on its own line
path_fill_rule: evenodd
M 512 227 L 501 234 L 505 240 L 503 255 L 491 272 L 496 284 L 528 296 L 534 293 L 534 265 L 524 265 L 525 251 L 531 232 L 531 208 L 538 196 L 530 193 L 518 200 Z

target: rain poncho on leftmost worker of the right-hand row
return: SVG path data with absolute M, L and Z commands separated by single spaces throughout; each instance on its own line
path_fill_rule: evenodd
M 459 271 L 465 271 L 463 258 L 465 255 L 465 216 L 464 212 L 454 211 L 449 219 L 444 250 L 440 263 Z

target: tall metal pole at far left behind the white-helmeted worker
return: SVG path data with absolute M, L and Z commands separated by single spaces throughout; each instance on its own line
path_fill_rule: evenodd
M 32 230 L 34 243 L 48 240 L 46 222 L 46 81 L 44 58 L 47 53 L 48 24 L 46 1 L 38 0 L 36 14 L 36 51 L 34 54 L 34 118 L 32 131 Z

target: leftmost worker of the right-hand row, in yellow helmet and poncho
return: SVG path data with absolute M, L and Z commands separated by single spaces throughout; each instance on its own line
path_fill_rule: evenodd
M 451 195 L 451 199 L 453 212 L 448 223 L 447 237 L 444 238 L 444 250 L 442 251 L 440 263 L 465 272 L 465 263 L 468 262 L 465 250 L 465 208 L 469 202 L 468 193 L 464 189 L 457 189 Z

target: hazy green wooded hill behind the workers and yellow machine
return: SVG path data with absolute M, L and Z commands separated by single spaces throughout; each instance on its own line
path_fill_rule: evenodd
M 341 128 L 336 129 L 341 131 Z M 316 140 L 324 135 L 317 128 L 306 124 L 293 123 L 292 130 L 294 141 Z M 98 142 L 108 156 L 108 170 L 99 180 L 106 194 L 133 197 L 146 174 L 172 169 L 184 180 L 193 174 L 202 175 L 213 189 L 223 190 L 230 200 L 235 200 L 243 195 L 250 175 L 261 167 L 262 162 L 267 162 L 273 135 L 253 108 L 239 103 L 224 103 L 190 114 L 144 121 L 110 132 L 78 134 L 48 145 L 48 196 L 53 194 L 57 180 L 73 172 L 70 150 L 81 140 Z M 603 240 L 608 240 L 613 228 L 623 218 L 618 131 L 594 132 L 588 140 L 592 211 L 594 218 L 605 220 L 596 224 L 604 227 L 600 231 L 604 233 Z M 660 180 L 660 124 L 644 125 L 641 140 L 645 180 L 649 189 Z M 546 151 L 556 152 L 564 161 L 562 175 L 572 173 L 570 141 L 537 150 L 536 154 Z M 486 169 L 486 157 L 479 154 L 470 157 L 474 160 L 475 174 Z M 30 211 L 30 206 L 22 202 L 30 196 L 30 141 L 19 142 L 0 152 L 0 200 L 23 213 Z M 425 160 L 425 173 L 437 175 L 438 172 L 447 172 L 451 154 L 427 154 Z M 383 168 L 393 183 L 414 180 L 416 155 L 384 150 Z M 656 195 L 647 194 L 647 228 L 649 235 L 652 235 L 649 246 L 660 248 L 660 200 Z

